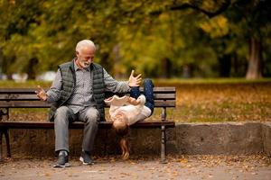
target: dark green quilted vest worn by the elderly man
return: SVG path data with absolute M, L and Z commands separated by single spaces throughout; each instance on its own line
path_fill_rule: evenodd
M 53 121 L 54 113 L 58 107 L 65 105 L 69 100 L 70 95 L 74 91 L 75 86 L 75 69 L 74 61 L 64 63 L 59 66 L 61 70 L 61 98 L 58 102 L 51 104 L 51 109 L 49 112 L 49 120 Z M 105 109 L 104 109 L 104 99 L 105 99 L 105 82 L 104 82 L 104 71 L 103 67 L 96 63 L 91 63 L 90 70 L 93 71 L 93 94 L 92 97 L 97 104 L 97 109 L 100 114 L 100 121 L 105 120 Z

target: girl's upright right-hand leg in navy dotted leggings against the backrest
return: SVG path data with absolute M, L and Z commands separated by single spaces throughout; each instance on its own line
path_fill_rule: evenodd
M 145 106 L 154 112 L 154 84 L 151 79 L 144 81 Z

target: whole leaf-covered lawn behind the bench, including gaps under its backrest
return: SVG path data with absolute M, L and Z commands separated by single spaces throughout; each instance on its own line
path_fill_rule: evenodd
M 0 81 L 0 87 L 49 87 L 51 83 Z M 177 107 L 168 110 L 173 121 L 271 121 L 271 79 L 155 79 L 155 86 L 176 86 Z M 160 118 L 155 109 L 150 120 Z M 14 109 L 14 120 L 44 121 L 47 110 Z

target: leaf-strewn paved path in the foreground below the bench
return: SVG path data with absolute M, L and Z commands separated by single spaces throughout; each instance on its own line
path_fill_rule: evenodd
M 271 164 L 262 156 L 184 156 L 169 157 L 160 164 L 158 157 L 96 158 L 93 166 L 71 159 L 70 167 L 52 168 L 54 158 L 11 158 L 0 163 L 0 179 L 246 179 L 271 180 Z

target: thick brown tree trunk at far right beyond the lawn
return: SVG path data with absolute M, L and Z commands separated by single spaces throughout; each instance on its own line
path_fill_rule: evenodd
M 262 49 L 261 41 L 255 38 L 251 38 L 249 42 L 249 59 L 247 79 L 257 79 L 262 77 Z

